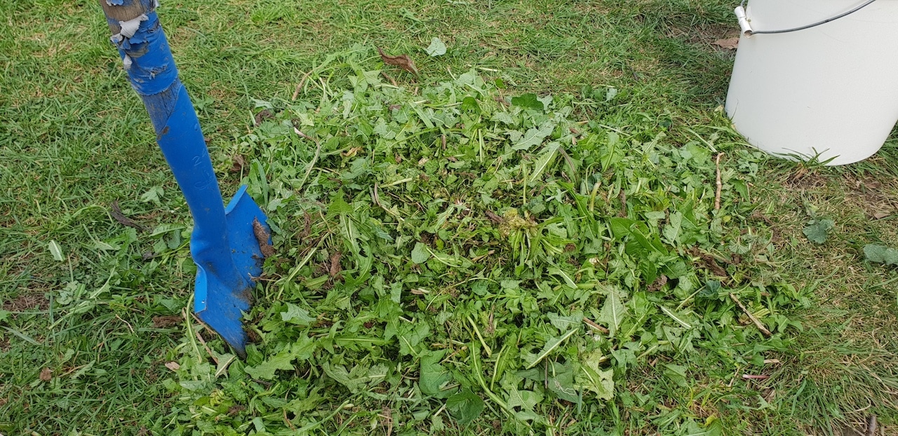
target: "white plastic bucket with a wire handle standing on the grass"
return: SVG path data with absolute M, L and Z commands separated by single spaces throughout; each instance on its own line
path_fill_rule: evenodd
M 753 31 L 779 31 L 864 3 L 750 0 L 744 12 Z M 898 0 L 876 0 L 802 31 L 743 34 L 726 114 L 770 154 L 830 165 L 872 156 L 898 121 Z

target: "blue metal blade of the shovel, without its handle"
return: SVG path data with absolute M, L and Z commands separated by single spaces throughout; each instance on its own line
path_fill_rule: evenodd
M 217 275 L 207 274 L 198 266 L 194 290 L 194 311 L 199 319 L 222 336 L 241 357 L 246 357 L 246 332 L 241 318 L 250 310 L 254 277 L 262 274 L 263 256 L 259 241 L 253 233 L 253 222 L 258 220 L 270 234 L 266 216 L 246 193 L 243 186 L 237 190 L 231 203 L 225 208 L 227 238 L 231 257 L 239 274 L 245 279 L 240 286 L 228 285 L 216 280 Z M 271 243 L 269 239 L 269 243 Z

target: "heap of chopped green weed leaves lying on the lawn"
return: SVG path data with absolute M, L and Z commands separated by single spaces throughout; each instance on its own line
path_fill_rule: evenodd
M 676 144 L 648 116 L 603 125 L 624 110 L 613 89 L 577 100 L 597 114 L 581 120 L 570 95 L 512 96 L 474 70 L 398 86 L 374 59 L 330 57 L 315 75 L 348 81 L 259 102 L 233 151 L 276 249 L 246 319 L 254 344 L 242 362 L 189 331 L 166 380 L 172 425 L 744 425 L 735 412 L 760 405 L 753 380 L 807 304 L 754 260 L 771 235 L 741 231 L 760 153 L 718 167 L 716 136 Z

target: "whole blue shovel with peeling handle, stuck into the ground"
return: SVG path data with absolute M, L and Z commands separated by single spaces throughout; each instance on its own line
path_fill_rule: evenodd
M 225 208 L 197 112 L 155 13 L 156 0 L 100 0 L 131 86 L 144 100 L 156 143 L 172 168 L 193 216 L 190 254 L 197 264 L 194 311 L 246 356 L 242 312 L 250 309 L 253 277 L 261 274 L 260 244 L 270 247 L 265 214 L 237 190 Z

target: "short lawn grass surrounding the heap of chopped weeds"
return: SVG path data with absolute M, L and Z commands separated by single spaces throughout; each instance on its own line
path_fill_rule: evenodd
M 204 0 L 163 4 L 161 14 L 227 193 L 241 179 L 228 170 L 233 155 L 260 153 L 241 145 L 264 133 L 253 126 L 255 100 L 288 107 L 305 73 L 354 45 L 369 55 L 374 46 L 409 53 L 421 77 L 389 70 L 409 89 L 471 67 L 503 77 L 511 95 L 571 92 L 585 100 L 593 96 L 585 85 L 613 87 L 611 109 L 577 113 L 628 132 L 671 126 L 668 144 L 708 139 L 726 127 L 716 109 L 733 57 L 710 42 L 735 27 L 731 4 L 706 3 Z M 96 4 L 4 2 L 0 22 L 0 296 L 8 312 L 0 312 L 0 432 L 172 429 L 190 416 L 181 400 L 189 396 L 165 383 L 175 376 L 164 363 L 182 359 L 193 336 L 183 321 L 166 326 L 154 317 L 181 313 L 194 269 L 186 234 L 159 226 L 188 224 L 187 208 Z M 421 51 L 434 36 L 449 47 L 444 57 Z M 738 166 L 735 151 L 744 146 L 726 134 L 721 141 L 731 143 L 722 163 Z M 861 249 L 898 247 L 896 153 L 893 136 L 875 158 L 849 167 L 750 162 L 759 182 L 751 190 L 756 214 L 745 222 L 772 249 L 753 253 L 752 268 L 727 269 L 756 281 L 784 277 L 812 292 L 813 307 L 788 312 L 803 329 L 789 334 L 795 342 L 766 372 L 770 379 L 733 388 L 709 353 L 687 359 L 705 370 L 687 388 L 643 362 L 627 386 L 655 398 L 653 408 L 640 412 L 621 398 L 599 417 L 635 434 L 665 428 L 674 414 L 722 417 L 736 434 L 827 434 L 864 428 L 876 414 L 882 434 L 895 432 L 896 271 L 865 263 Z M 158 199 L 144 196 L 158 188 Z M 111 219 L 116 200 L 159 234 Z M 876 212 L 892 215 L 875 219 Z M 818 216 L 836 222 L 823 245 L 802 234 Z M 49 252 L 51 240 L 64 260 Z M 40 379 L 45 368 L 48 381 Z

